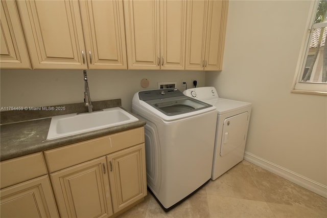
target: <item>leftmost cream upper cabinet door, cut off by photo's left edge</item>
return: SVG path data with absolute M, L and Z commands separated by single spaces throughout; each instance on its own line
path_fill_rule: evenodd
M 30 69 L 31 64 L 14 1 L 1 0 L 0 67 Z

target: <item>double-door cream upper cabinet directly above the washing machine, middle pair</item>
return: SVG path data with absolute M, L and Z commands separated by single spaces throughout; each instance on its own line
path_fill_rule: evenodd
M 128 69 L 183 70 L 185 1 L 124 1 Z

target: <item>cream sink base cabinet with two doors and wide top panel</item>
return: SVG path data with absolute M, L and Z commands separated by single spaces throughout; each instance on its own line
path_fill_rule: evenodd
M 144 127 L 44 151 L 60 217 L 115 216 L 147 195 Z

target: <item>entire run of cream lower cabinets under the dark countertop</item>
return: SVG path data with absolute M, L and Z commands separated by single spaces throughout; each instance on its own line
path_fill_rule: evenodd
M 144 142 L 138 127 L 0 162 L 0 217 L 124 212 L 147 195 Z

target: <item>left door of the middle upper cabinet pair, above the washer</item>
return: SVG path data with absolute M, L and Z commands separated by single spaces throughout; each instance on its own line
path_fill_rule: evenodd
M 159 2 L 124 1 L 128 69 L 159 70 Z

